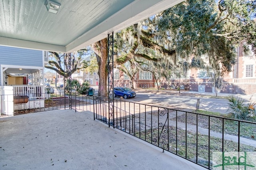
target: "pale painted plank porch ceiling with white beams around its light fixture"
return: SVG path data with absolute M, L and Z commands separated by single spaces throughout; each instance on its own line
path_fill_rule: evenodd
M 73 52 L 183 0 L 0 0 L 0 45 Z

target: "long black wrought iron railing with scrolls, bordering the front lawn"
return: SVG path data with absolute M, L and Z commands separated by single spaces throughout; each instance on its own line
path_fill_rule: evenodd
M 208 169 L 214 152 L 254 152 L 256 123 L 94 96 L 94 118 Z M 108 115 L 111 113 L 112 115 Z

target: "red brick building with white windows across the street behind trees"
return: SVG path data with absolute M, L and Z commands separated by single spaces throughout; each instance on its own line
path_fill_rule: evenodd
M 232 72 L 223 77 L 223 87 L 220 93 L 230 94 L 253 94 L 256 93 L 256 56 L 250 50 L 244 53 L 243 43 L 237 48 L 237 64 L 232 68 Z M 207 58 L 207 56 L 205 56 Z M 206 60 L 207 61 L 207 60 Z M 162 88 L 180 88 L 195 92 L 215 92 L 211 68 L 196 69 L 191 68 L 186 74 L 179 73 L 171 79 L 171 82 L 160 82 Z M 156 83 L 152 73 L 140 71 L 134 76 L 134 80 L 120 70 L 114 70 L 114 86 L 124 86 L 134 88 L 154 88 Z

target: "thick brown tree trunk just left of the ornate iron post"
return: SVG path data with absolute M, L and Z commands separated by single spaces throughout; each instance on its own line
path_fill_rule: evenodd
M 92 49 L 96 54 L 99 70 L 99 89 L 98 96 L 108 97 L 108 39 L 102 39 L 92 44 Z

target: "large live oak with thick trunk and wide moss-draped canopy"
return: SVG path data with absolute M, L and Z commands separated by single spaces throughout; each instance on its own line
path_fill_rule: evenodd
M 235 48 L 241 41 L 256 52 L 255 9 L 252 0 L 186 0 L 116 33 L 114 62 L 122 65 L 145 59 L 158 63 L 153 65 L 159 70 L 163 65 L 159 63 L 168 60 L 165 66 L 171 71 L 166 77 L 177 68 L 186 71 L 191 67 L 211 67 L 222 76 L 236 63 Z M 99 92 L 105 96 L 106 41 L 92 45 L 102 81 Z M 208 59 L 208 65 L 203 58 Z

